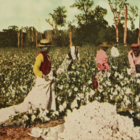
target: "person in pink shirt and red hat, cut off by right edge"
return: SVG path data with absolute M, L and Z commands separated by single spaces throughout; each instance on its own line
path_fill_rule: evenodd
M 128 60 L 132 74 L 140 73 L 140 51 L 138 44 L 131 45 L 131 51 L 128 53 Z

